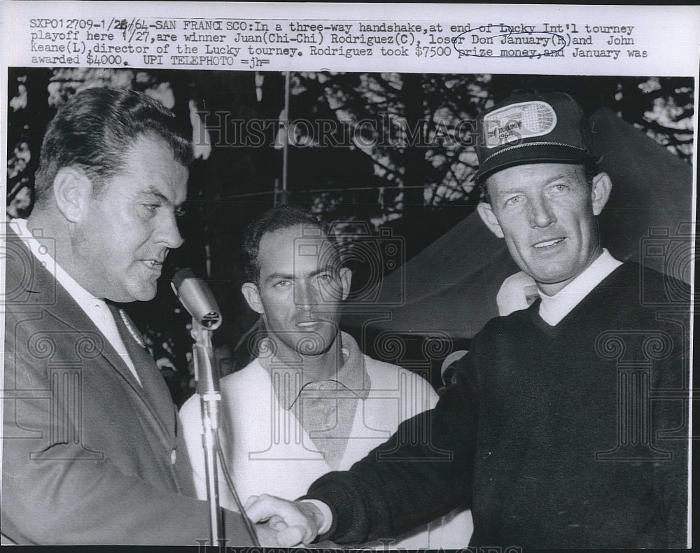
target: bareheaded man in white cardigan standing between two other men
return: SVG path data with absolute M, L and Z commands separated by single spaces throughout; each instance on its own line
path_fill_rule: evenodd
M 221 379 L 221 449 L 241 498 L 294 499 L 326 472 L 350 468 L 400 422 L 435 407 L 437 394 L 419 374 L 363 355 L 339 331 L 351 272 L 330 230 L 307 211 L 265 211 L 248 225 L 243 246 L 241 291 L 265 331 L 253 337 L 255 360 Z M 200 398 L 190 398 L 180 414 L 197 493 L 205 498 Z M 221 504 L 235 508 L 223 475 L 218 481 Z M 468 542 L 468 511 L 436 518 L 374 545 L 454 549 Z

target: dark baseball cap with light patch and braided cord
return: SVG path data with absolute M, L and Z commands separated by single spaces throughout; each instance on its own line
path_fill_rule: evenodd
M 479 170 L 472 179 L 514 165 L 593 160 L 591 127 L 563 92 L 513 94 L 477 120 Z

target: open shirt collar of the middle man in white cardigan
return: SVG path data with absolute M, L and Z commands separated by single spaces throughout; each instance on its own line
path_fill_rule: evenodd
M 344 363 L 339 367 L 332 378 L 325 379 L 330 383 L 337 383 L 351 391 L 361 400 L 365 400 L 370 393 L 370 377 L 365 368 L 363 354 L 357 342 L 351 335 L 341 332 L 342 354 Z M 262 348 L 264 351 L 272 349 Z M 299 364 L 289 365 L 276 357 L 261 356 L 258 358 L 260 365 L 272 377 L 272 388 L 284 409 L 291 409 L 299 395 L 308 384 L 316 381 L 304 379 L 303 367 Z

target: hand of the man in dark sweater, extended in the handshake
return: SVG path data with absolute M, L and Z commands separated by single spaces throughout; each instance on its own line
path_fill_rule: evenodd
M 256 528 L 267 526 L 276 531 L 276 543 L 269 543 L 269 530 L 258 529 L 261 542 L 279 547 L 295 547 L 309 544 L 318 535 L 318 528 L 323 525 L 323 514 L 318 507 L 306 502 L 288 501 L 286 499 L 268 496 L 251 496 L 244 505 L 248 518 Z M 262 543 L 265 545 L 265 543 Z

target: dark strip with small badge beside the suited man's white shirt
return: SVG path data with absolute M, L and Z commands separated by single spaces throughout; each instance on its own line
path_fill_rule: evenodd
M 117 325 L 117 330 L 124 342 L 127 353 L 129 353 L 132 363 L 136 367 L 141 385 L 148 396 L 149 406 L 158 411 L 164 421 L 170 423 L 170 419 L 173 416 L 172 398 L 170 397 L 167 384 L 165 384 L 165 379 L 160 374 L 158 366 L 155 365 L 155 360 L 153 360 L 153 357 L 146 349 L 141 333 L 126 311 L 110 302 L 106 303 Z

